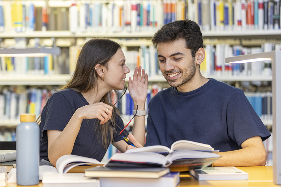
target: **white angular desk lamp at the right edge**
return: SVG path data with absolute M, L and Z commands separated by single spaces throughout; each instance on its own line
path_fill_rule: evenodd
M 225 63 L 246 63 L 271 60 L 272 67 L 272 133 L 273 182 L 281 185 L 281 50 L 225 58 Z

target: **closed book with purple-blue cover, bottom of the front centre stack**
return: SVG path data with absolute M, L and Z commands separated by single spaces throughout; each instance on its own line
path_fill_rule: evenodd
M 158 179 L 99 177 L 99 180 L 105 187 L 176 187 L 180 182 L 180 172 L 170 172 Z

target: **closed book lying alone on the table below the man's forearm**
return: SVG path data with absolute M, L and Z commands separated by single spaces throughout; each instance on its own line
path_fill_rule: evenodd
M 248 173 L 236 167 L 205 167 L 189 173 L 198 180 L 248 180 Z

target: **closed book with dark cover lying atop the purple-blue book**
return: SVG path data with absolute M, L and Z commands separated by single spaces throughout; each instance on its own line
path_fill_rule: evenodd
M 119 178 L 151 178 L 159 177 L 170 173 L 169 168 L 162 167 L 103 167 L 96 166 L 85 170 L 86 177 L 119 177 Z

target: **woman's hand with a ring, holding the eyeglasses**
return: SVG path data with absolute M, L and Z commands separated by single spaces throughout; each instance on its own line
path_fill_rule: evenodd
M 112 106 L 105 103 L 88 104 L 78 108 L 74 114 L 83 119 L 99 119 L 100 124 L 107 122 L 112 115 Z

